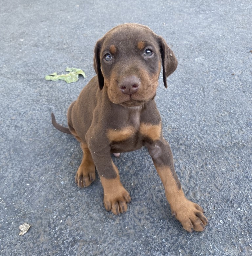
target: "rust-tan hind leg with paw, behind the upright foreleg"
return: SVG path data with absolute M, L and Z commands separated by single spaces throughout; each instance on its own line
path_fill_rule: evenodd
M 95 180 L 95 164 L 87 144 L 80 143 L 83 151 L 81 164 L 75 175 L 78 187 L 88 187 Z

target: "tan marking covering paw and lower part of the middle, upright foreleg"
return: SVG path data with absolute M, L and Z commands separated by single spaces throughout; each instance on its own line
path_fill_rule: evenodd
M 117 173 L 115 179 L 106 179 L 100 176 L 104 190 L 103 203 L 107 211 L 112 211 L 115 215 L 127 211 L 127 203 L 130 202 L 130 194 L 125 190 L 120 182 L 119 171 L 112 161 L 114 170 Z

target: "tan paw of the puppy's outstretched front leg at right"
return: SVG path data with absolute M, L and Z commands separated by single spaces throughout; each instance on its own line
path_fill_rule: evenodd
M 208 223 L 203 214 L 203 209 L 196 203 L 187 199 L 180 201 L 172 214 L 180 221 L 183 228 L 188 232 L 203 231 Z

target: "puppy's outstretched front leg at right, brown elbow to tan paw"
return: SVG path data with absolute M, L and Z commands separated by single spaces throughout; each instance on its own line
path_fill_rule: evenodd
M 174 169 L 173 155 L 168 142 L 161 138 L 149 143 L 147 147 L 164 185 L 165 195 L 171 206 L 172 214 L 187 231 L 203 231 L 207 224 L 207 218 L 198 204 L 189 201 L 184 196 Z

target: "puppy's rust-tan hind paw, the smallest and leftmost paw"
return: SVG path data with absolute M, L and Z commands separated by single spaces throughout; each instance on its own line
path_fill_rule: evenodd
M 86 167 L 84 165 L 80 165 L 75 175 L 75 182 L 78 187 L 88 187 L 94 180 L 95 166 Z

